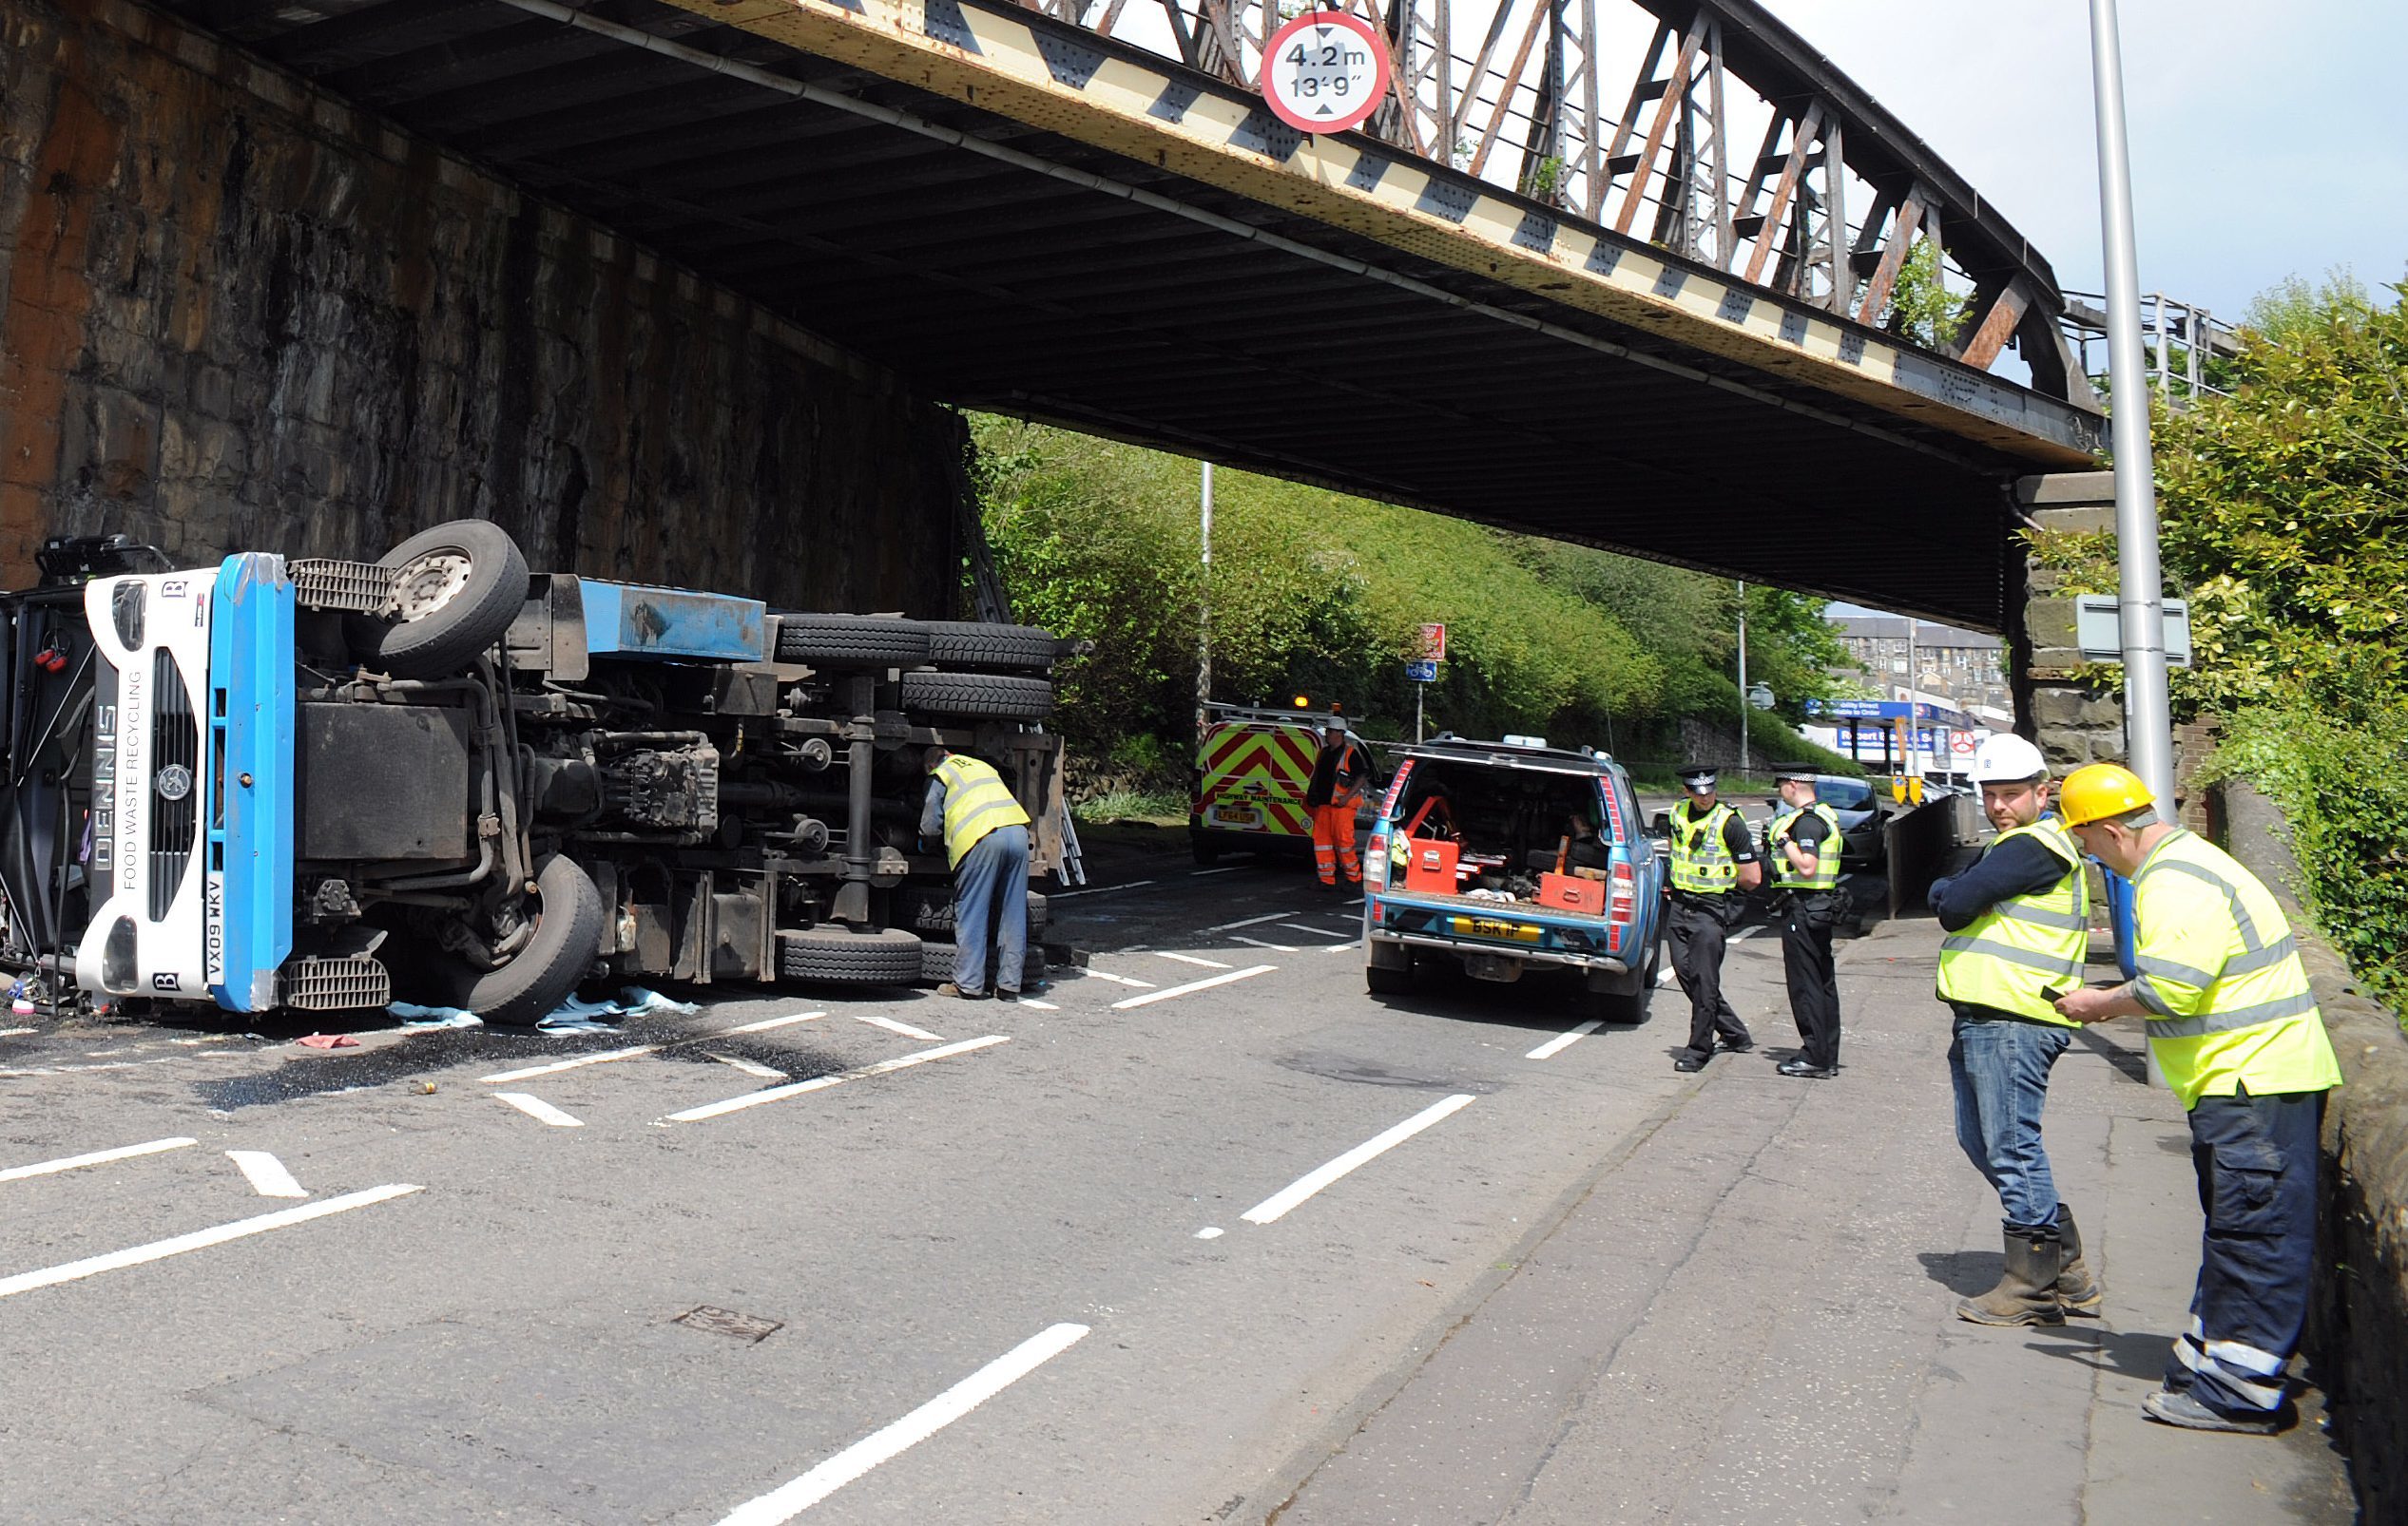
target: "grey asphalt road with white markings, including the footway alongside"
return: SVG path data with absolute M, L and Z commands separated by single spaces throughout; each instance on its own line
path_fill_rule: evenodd
M 0 1033 L 10 1521 L 2348 1521 L 2285 1437 L 2146 1423 L 2196 1256 L 2136 1033 L 2049 1138 L 2105 1319 L 1999 1271 L 1938 934 L 1840 948 L 1835 1081 L 1676 989 L 1363 992 L 1293 866 L 1091 833 L 1043 1001 L 681 992 L 614 1033 L 315 1052 Z M 299 1194 L 299 1196 L 296 1196 Z

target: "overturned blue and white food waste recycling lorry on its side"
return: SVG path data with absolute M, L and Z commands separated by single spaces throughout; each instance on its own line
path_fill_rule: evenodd
M 484 520 L 378 563 L 39 563 L 0 599 L 0 968 L 36 1004 L 535 1023 L 588 977 L 946 980 L 927 744 L 1062 857 L 1045 631 L 530 575 Z

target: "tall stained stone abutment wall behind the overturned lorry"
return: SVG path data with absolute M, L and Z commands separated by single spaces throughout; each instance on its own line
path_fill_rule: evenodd
M 0 0 L 0 580 L 53 532 L 949 614 L 956 416 L 123 0 Z

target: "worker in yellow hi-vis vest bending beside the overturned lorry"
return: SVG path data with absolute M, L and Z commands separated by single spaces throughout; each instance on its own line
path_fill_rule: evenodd
M 1019 999 L 1028 958 L 1028 811 L 1004 775 L 966 753 L 932 746 L 920 838 L 944 838 L 954 869 L 954 980 L 939 996 L 982 999 L 987 953 L 995 953 L 995 994 Z M 992 944 L 990 939 L 992 929 Z

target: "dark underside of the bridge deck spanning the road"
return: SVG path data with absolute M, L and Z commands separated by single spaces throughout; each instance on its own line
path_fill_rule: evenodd
M 583 7 L 600 31 L 508 0 L 171 10 L 963 407 L 1991 631 L 2006 484 L 2085 460 L 650 0 Z M 1710 274 L 1609 238 L 1674 301 Z

